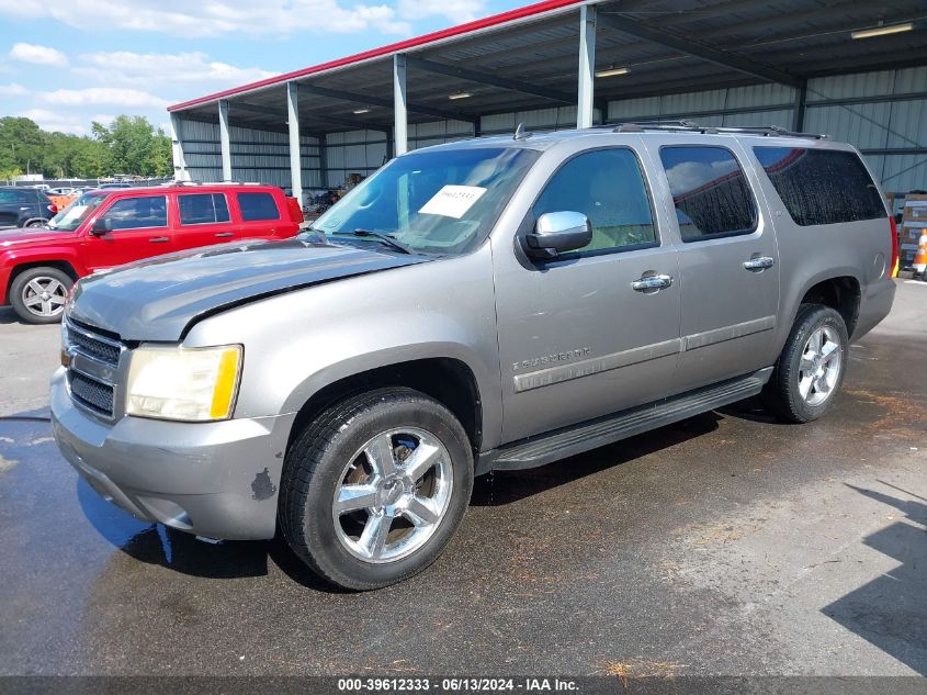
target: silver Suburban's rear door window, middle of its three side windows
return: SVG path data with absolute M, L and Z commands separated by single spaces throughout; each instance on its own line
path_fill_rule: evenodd
M 659 156 L 683 242 L 749 234 L 756 228 L 754 197 L 730 149 L 667 146 Z

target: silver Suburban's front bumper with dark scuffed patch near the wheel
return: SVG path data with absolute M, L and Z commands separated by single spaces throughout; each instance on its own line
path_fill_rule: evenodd
M 223 539 L 272 538 L 295 413 L 217 423 L 122 417 L 104 423 L 52 380 L 58 448 L 104 498 L 149 522 Z

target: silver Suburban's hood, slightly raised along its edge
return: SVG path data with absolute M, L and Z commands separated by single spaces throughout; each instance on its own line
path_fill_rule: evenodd
M 80 281 L 76 321 L 126 340 L 180 340 L 195 320 L 245 302 L 340 278 L 430 260 L 309 238 L 225 244 L 159 256 Z

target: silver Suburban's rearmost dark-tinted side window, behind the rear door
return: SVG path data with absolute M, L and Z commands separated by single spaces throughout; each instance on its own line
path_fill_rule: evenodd
M 885 217 L 879 190 L 851 152 L 754 147 L 795 224 L 840 224 Z

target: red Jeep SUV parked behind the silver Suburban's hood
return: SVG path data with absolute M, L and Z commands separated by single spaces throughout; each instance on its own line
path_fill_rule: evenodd
M 215 183 L 89 191 L 45 226 L 0 232 L 0 305 L 54 323 L 91 272 L 172 251 L 295 236 L 303 212 L 271 186 Z

